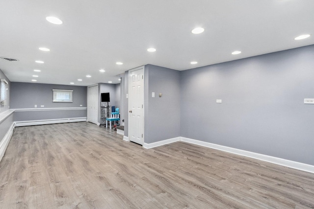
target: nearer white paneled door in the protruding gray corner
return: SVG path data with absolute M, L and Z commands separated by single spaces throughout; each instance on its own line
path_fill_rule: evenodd
M 144 66 L 129 71 L 129 139 L 144 143 Z

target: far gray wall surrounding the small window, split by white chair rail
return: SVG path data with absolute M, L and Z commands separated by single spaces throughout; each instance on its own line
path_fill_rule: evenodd
M 73 90 L 73 102 L 52 102 L 52 89 Z M 80 105 L 87 107 L 87 87 L 11 82 L 10 108 L 26 109 L 34 108 L 34 105 L 37 105 L 37 108 L 41 108 L 41 105 L 44 105 L 44 108 L 71 108 L 80 107 Z M 86 110 L 29 111 L 15 112 L 14 120 L 21 121 L 86 116 Z

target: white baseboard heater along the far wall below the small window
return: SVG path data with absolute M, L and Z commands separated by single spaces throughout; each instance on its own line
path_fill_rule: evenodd
M 25 120 L 15 121 L 15 126 L 30 126 L 30 125 L 46 125 L 54 123 L 71 123 L 71 122 L 84 122 L 86 117 L 72 117 L 72 118 L 59 118 L 59 119 L 46 119 L 46 120 Z

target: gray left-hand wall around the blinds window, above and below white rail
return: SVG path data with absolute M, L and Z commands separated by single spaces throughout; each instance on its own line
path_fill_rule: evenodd
M 8 87 L 9 87 L 9 91 L 7 92 L 8 94 L 8 101 L 6 105 L 0 105 L 0 114 L 2 114 L 3 112 L 9 110 L 9 106 L 10 106 L 10 92 L 11 92 L 11 82 L 10 80 L 4 75 L 4 73 L 2 72 L 2 70 L 0 69 L 0 79 L 5 79 L 8 82 Z M 13 123 L 13 114 L 8 116 L 6 119 L 4 119 L 2 122 L 0 122 L 0 141 L 3 139 L 3 137 L 5 136 L 5 134 L 7 133 L 7 131 L 9 130 L 10 126 Z

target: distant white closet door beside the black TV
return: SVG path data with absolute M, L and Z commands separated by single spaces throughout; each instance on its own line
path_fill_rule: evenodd
M 87 121 L 97 124 L 98 120 L 98 85 L 88 87 Z

